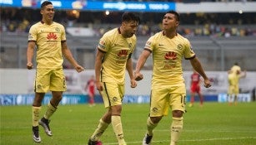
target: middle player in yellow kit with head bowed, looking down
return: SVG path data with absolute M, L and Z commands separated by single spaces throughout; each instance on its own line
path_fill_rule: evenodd
M 96 88 L 103 97 L 108 109 L 100 118 L 88 145 L 95 145 L 108 125 L 112 123 L 113 132 L 118 145 L 126 145 L 123 138 L 121 122 L 122 99 L 124 95 L 124 76 L 128 70 L 131 87 L 137 86 L 133 76 L 132 53 L 136 47 L 135 33 L 138 29 L 139 17 L 133 12 L 124 12 L 121 27 L 107 31 L 98 43 L 95 59 Z

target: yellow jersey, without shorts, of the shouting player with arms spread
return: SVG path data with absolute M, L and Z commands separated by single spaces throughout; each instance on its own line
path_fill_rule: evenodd
M 152 89 L 183 85 L 183 57 L 195 57 L 188 39 L 179 34 L 170 39 L 160 31 L 148 39 L 144 49 L 153 53 Z

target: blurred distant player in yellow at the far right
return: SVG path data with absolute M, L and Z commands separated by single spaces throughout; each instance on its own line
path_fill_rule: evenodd
M 228 70 L 228 104 L 235 105 L 238 104 L 238 94 L 239 94 L 239 80 L 246 76 L 246 70 L 241 71 L 241 67 L 238 62 Z M 233 98 L 234 97 L 234 98 Z

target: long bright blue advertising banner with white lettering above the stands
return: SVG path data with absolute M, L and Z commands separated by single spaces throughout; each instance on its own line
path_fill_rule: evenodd
M 42 2 L 38 0 L 0 0 L 0 6 L 40 8 Z M 166 12 L 176 8 L 175 2 L 96 2 L 86 0 L 53 0 L 51 2 L 56 9 L 84 11 Z

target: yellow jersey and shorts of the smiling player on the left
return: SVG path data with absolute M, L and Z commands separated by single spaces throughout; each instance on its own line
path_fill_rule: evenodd
M 66 41 L 66 33 L 63 25 L 38 22 L 30 28 L 28 41 L 35 41 L 37 45 L 35 92 L 65 91 L 61 43 Z

